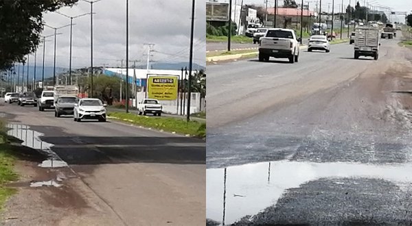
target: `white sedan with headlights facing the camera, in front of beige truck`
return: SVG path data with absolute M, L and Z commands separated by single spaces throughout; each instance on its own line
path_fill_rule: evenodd
M 83 98 L 74 104 L 74 121 L 83 119 L 98 119 L 100 122 L 106 121 L 106 104 L 100 99 Z

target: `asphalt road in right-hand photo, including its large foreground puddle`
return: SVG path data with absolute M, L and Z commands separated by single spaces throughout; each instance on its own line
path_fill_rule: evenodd
M 398 92 L 412 52 L 398 42 L 378 61 L 342 44 L 208 66 L 208 224 L 412 223 L 412 103 Z

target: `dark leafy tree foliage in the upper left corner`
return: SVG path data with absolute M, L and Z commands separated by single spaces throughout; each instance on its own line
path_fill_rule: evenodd
M 36 50 L 43 31 L 43 12 L 55 11 L 78 0 L 1 0 L 0 70 Z

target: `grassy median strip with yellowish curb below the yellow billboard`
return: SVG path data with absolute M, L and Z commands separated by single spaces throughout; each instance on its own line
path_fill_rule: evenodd
M 206 137 L 206 123 L 187 122 L 180 118 L 140 116 L 124 112 L 111 112 L 108 118 L 115 121 L 131 123 L 148 129 L 167 131 L 172 134 L 182 134 L 196 138 Z

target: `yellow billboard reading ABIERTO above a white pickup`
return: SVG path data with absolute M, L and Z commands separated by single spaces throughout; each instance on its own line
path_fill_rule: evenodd
M 148 98 L 163 101 L 177 99 L 179 77 L 174 75 L 148 75 Z

